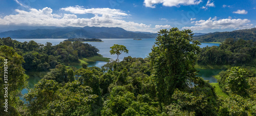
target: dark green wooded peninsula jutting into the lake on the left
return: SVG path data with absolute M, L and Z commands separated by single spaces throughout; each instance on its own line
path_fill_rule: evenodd
M 49 71 L 61 63 L 66 65 L 72 62 L 79 63 L 79 59 L 98 55 L 97 52 L 99 51 L 90 44 L 78 41 L 65 41 L 53 46 L 49 42 L 43 45 L 33 40 L 18 42 L 11 38 L 2 38 L 0 45 L 10 46 L 19 55 L 22 55 L 25 61 L 23 67 L 26 71 Z

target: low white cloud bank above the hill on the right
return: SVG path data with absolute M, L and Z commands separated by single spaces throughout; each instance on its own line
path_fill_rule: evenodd
M 219 19 L 217 20 L 217 17 L 214 17 L 211 19 L 211 17 L 208 20 L 198 20 L 195 21 L 195 26 L 185 26 L 182 28 L 184 29 L 190 29 L 192 31 L 198 31 L 198 30 L 205 30 L 205 29 L 225 29 L 225 28 L 250 28 L 253 26 L 253 24 L 249 24 L 250 20 L 248 19 Z

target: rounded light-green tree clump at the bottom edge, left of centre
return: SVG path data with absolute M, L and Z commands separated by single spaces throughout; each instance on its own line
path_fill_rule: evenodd
M 55 80 L 42 79 L 25 98 L 32 115 L 92 115 L 97 96 L 78 81 L 59 86 Z

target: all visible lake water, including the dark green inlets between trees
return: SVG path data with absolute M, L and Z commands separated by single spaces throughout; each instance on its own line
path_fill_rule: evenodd
M 41 44 L 46 44 L 46 42 L 50 42 L 53 45 L 57 45 L 60 42 L 66 40 L 66 39 L 15 39 L 19 42 L 29 42 L 31 40 L 41 43 Z M 119 44 L 119 45 L 124 45 L 128 50 L 129 53 L 122 53 L 119 55 L 119 60 L 121 61 L 123 57 L 126 56 L 132 56 L 132 57 L 142 57 L 145 58 L 148 56 L 148 53 L 151 52 L 152 46 L 155 44 L 156 40 L 154 38 L 151 39 L 142 39 L 142 40 L 133 40 L 133 39 L 101 39 L 103 42 L 84 42 L 84 43 L 89 43 L 92 46 L 95 46 L 96 48 L 99 49 L 99 54 L 103 55 L 104 57 L 110 57 L 111 59 L 116 59 L 117 55 L 111 55 L 110 54 L 110 47 L 113 46 L 114 44 Z M 200 47 L 206 47 L 206 46 L 219 46 L 218 43 L 201 43 Z M 89 63 L 89 67 L 101 67 L 106 62 L 94 62 L 94 63 Z M 217 82 L 217 80 L 212 77 L 213 75 L 216 75 L 220 72 L 221 69 L 199 69 L 199 76 L 203 77 L 206 80 L 209 80 L 210 82 Z M 36 74 L 28 74 L 30 76 L 29 78 L 29 88 L 33 88 L 34 84 L 37 83 L 44 75 L 46 72 L 36 72 Z M 26 89 L 22 91 L 22 94 L 28 93 Z

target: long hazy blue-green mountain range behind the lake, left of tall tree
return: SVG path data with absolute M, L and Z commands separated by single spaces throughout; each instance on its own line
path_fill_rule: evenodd
M 35 27 L 33 27 L 35 28 Z M 0 37 L 44 39 L 44 38 L 156 38 L 154 33 L 126 31 L 120 27 L 57 27 L 15 30 L 0 33 Z

